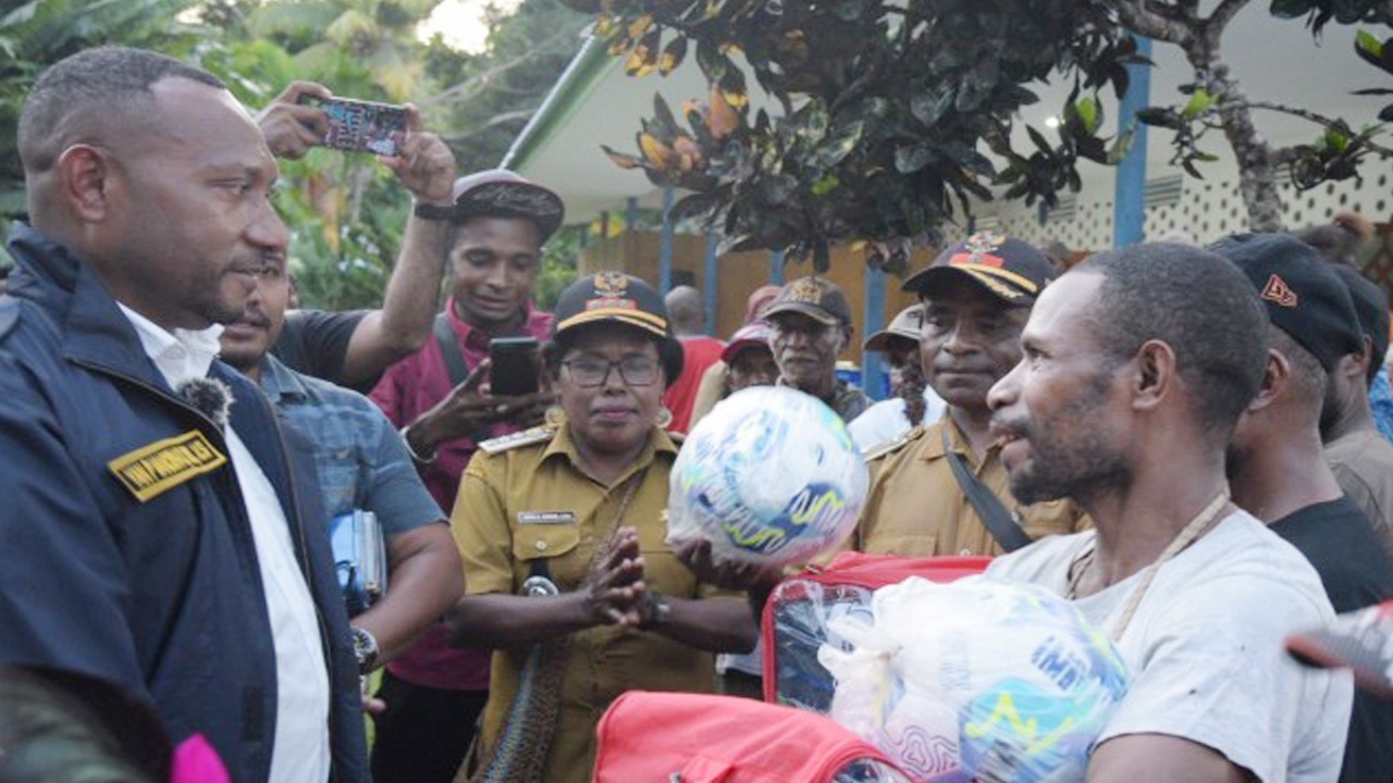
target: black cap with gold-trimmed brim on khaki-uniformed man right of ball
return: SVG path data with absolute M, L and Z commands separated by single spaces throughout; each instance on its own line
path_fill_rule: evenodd
M 1029 242 L 993 231 L 978 231 L 933 259 L 904 281 L 901 290 L 921 297 L 951 276 L 967 276 L 1009 305 L 1031 307 L 1055 276 L 1055 266 Z

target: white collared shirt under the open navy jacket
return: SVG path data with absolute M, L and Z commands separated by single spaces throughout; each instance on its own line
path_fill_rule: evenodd
M 217 355 L 221 326 L 171 334 L 117 302 L 135 327 L 145 354 L 170 389 L 206 378 Z M 242 490 L 256 545 L 266 613 L 276 646 L 276 738 L 272 783 L 323 783 L 329 779 L 329 670 L 309 585 L 295 561 L 290 522 L 270 479 L 231 426 L 223 426 L 228 458 Z

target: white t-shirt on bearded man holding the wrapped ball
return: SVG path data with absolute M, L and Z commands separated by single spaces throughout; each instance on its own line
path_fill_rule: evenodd
M 988 574 L 1068 591 L 1070 563 L 1095 531 L 1056 535 L 996 559 Z M 1141 573 L 1075 600 L 1112 635 Z M 1119 651 L 1127 697 L 1099 744 L 1166 734 L 1208 745 L 1266 783 L 1330 783 L 1350 726 L 1344 672 L 1304 669 L 1282 649 L 1286 634 L 1334 612 L 1315 570 L 1247 511 L 1160 567 Z

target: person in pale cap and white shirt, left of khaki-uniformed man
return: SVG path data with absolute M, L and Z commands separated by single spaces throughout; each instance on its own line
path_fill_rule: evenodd
M 924 302 L 900 311 L 890 325 L 866 337 L 865 350 L 885 354 L 890 365 L 890 397 L 871 405 L 847 428 L 862 451 L 871 451 L 943 417 L 943 397 L 924 380 L 919 366 L 919 333 L 924 330 Z

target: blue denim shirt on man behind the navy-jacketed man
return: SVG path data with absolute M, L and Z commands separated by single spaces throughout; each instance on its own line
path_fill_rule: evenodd
M 301 375 L 270 354 L 262 358 L 260 386 L 313 446 L 329 518 L 364 509 L 378 514 L 387 535 L 444 521 L 401 436 L 371 400 Z

